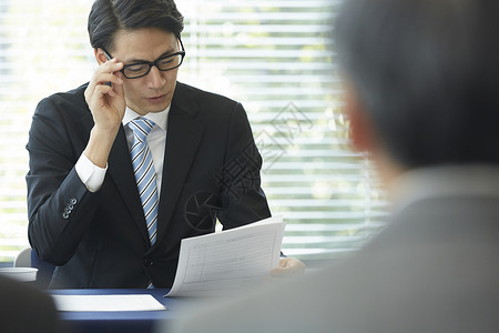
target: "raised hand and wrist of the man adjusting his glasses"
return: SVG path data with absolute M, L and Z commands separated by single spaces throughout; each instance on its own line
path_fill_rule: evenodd
M 122 68 L 123 63 L 115 59 L 101 64 L 85 90 L 85 101 L 95 124 L 83 153 L 100 168 L 108 164 L 109 153 L 126 108 L 123 74 L 120 72 Z

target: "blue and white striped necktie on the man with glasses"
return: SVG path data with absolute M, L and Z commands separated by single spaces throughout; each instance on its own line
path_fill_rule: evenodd
M 133 143 L 130 150 L 132 158 L 133 173 L 144 209 L 145 223 L 147 225 L 149 240 L 151 245 L 156 241 L 157 224 L 157 184 L 156 172 L 147 145 L 147 134 L 155 123 L 145 118 L 138 118 L 130 121 L 129 127 L 133 130 Z

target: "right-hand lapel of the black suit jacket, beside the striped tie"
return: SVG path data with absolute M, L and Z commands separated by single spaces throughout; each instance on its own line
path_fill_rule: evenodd
M 166 233 L 172 214 L 189 175 L 204 133 L 204 125 L 194 119 L 197 105 L 177 83 L 169 115 L 166 148 L 161 185 L 157 240 Z M 156 241 L 156 244 L 160 243 Z

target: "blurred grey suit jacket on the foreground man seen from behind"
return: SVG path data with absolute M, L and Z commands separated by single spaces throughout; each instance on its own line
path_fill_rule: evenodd
M 416 195 L 353 258 L 211 304 L 177 332 L 498 332 L 498 174 Z

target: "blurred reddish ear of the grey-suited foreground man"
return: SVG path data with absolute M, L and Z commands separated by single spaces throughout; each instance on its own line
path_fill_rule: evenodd
M 345 84 L 345 114 L 349 119 L 354 150 L 371 151 L 374 144 L 371 123 L 352 83 Z

